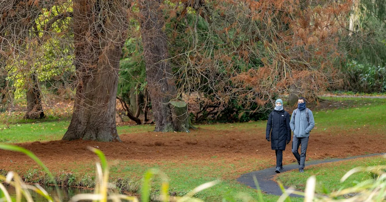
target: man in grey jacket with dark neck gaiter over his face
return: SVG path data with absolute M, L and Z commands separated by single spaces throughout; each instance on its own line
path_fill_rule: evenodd
M 304 97 L 298 98 L 298 109 L 293 110 L 289 127 L 293 131 L 292 153 L 298 160 L 299 172 L 304 172 L 304 163 L 306 161 L 306 151 L 310 131 L 315 126 L 312 111 L 306 108 Z M 299 146 L 301 144 L 301 154 L 299 155 Z

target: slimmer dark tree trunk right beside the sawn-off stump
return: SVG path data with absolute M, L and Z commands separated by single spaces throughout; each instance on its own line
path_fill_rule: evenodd
M 170 101 L 176 100 L 176 83 L 168 63 L 167 37 L 163 32 L 164 17 L 160 8 L 161 0 L 143 0 L 140 9 L 142 18 L 141 34 L 146 63 L 146 79 L 151 98 L 155 131 L 186 131 L 185 121 L 173 115 Z

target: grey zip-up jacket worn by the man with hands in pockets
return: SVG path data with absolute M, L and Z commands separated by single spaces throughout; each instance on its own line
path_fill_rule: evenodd
M 295 109 L 296 110 L 296 109 Z M 295 112 L 293 110 L 293 112 Z M 315 121 L 313 119 L 312 111 L 308 109 L 308 119 L 306 117 L 306 109 L 298 110 L 295 115 L 295 119 L 293 117 L 294 113 L 292 112 L 291 121 L 289 122 L 289 127 L 293 131 L 294 137 L 308 137 L 310 136 L 310 131 L 315 126 Z

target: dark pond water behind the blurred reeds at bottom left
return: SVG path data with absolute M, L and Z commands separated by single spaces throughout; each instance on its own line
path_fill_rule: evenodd
M 8 190 L 9 195 L 11 197 L 16 196 L 15 188 L 12 186 L 5 185 L 5 187 Z M 42 186 L 48 194 L 51 195 L 52 198 L 57 195 L 56 188 L 54 186 Z M 86 193 L 92 193 L 93 190 L 90 189 L 80 189 L 80 188 L 75 188 L 75 187 L 58 187 L 59 192 L 62 197 L 62 201 L 66 202 L 71 199 L 76 194 L 86 194 Z M 34 202 L 46 202 L 47 199 L 42 197 L 41 195 L 37 194 L 36 192 L 30 191 L 32 198 L 34 199 Z M 27 200 L 23 197 L 22 199 L 23 202 L 26 202 Z

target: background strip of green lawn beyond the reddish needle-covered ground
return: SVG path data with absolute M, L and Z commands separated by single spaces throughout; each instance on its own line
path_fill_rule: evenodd
M 345 103 L 340 109 L 315 110 L 315 130 L 331 132 L 335 129 L 386 130 L 386 99 L 369 98 L 327 98 L 334 102 Z M 39 120 L 27 124 L 12 124 L 8 127 L 0 125 L 0 142 L 19 143 L 34 141 L 60 140 L 67 130 L 69 121 L 41 122 Z M 234 123 L 235 130 L 263 129 L 266 121 L 252 123 Z M 199 125 L 201 128 L 229 129 L 228 124 Z M 130 134 L 154 130 L 154 125 L 138 125 L 117 127 L 118 134 Z

